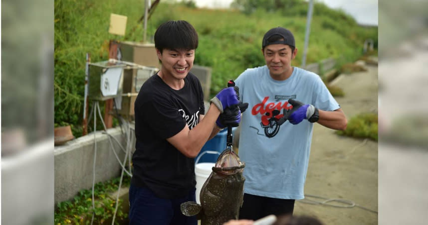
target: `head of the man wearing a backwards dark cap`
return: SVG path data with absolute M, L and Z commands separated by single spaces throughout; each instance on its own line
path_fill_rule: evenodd
M 283 27 L 268 30 L 263 36 L 261 51 L 270 76 L 274 80 L 285 80 L 291 76 L 293 72 L 291 60 L 297 55 L 291 31 Z

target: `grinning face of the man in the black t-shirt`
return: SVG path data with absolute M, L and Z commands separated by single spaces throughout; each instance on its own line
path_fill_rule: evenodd
M 195 60 L 195 49 L 163 49 L 158 58 L 162 62 L 160 74 L 162 79 L 172 82 L 181 82 L 186 78 Z

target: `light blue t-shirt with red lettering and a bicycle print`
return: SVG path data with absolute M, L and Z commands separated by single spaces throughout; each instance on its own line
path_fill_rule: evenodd
M 291 108 L 288 99 L 324 111 L 340 108 L 317 74 L 293 68 L 284 81 L 273 80 L 267 66 L 247 69 L 235 80 L 240 99 L 248 103 L 248 109 L 242 113 L 239 137 L 247 194 L 304 198 L 313 123 L 304 119 L 297 125 L 289 121 L 276 124 L 283 109 Z

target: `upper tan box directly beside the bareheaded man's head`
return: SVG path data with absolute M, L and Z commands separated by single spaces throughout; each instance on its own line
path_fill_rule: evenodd
M 121 60 L 139 65 L 160 68 L 155 44 L 123 41 L 119 43 Z

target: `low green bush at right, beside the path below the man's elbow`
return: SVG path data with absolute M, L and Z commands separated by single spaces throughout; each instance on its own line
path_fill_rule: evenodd
M 356 138 L 378 140 L 378 114 L 373 112 L 361 113 L 348 121 L 345 130 L 337 130 L 337 134 Z

